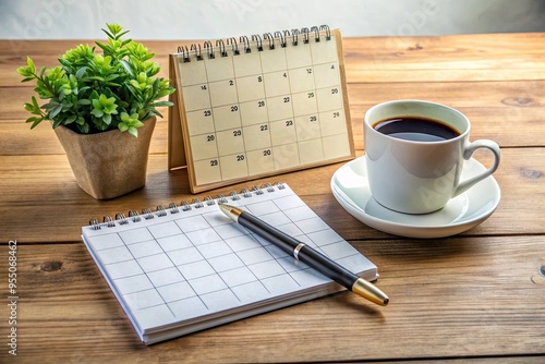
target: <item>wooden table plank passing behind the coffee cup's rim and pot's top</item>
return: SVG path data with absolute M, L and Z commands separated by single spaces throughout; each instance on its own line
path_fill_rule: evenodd
M 63 150 L 48 123 L 29 132 L 24 123 L 28 117 L 22 105 L 31 99 L 28 88 L 0 88 L 0 98 L 8 105 L 2 108 L 0 123 L 0 154 L 62 154 Z M 453 82 L 417 85 L 392 82 L 356 83 L 348 85 L 352 133 L 355 148 L 363 149 L 363 116 L 373 105 L 398 99 L 425 99 L 459 109 L 472 121 L 471 137 L 495 138 L 501 147 L 544 146 L 545 81 L 508 82 Z M 169 112 L 159 110 L 165 119 L 158 119 L 150 153 L 167 153 Z M 5 113 L 4 113 L 5 112 Z M 39 146 L 39 147 L 37 147 Z

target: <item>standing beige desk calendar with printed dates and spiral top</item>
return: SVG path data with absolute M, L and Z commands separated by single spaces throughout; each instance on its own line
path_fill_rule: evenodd
M 170 78 L 169 169 L 192 193 L 355 157 L 338 29 L 180 47 Z

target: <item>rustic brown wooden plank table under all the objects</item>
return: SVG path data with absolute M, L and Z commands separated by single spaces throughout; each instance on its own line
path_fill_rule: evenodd
M 47 123 L 28 130 L 22 105 L 32 88 L 20 84 L 15 69 L 26 54 L 53 65 L 76 44 L 0 41 L 1 362 L 11 359 L 10 241 L 16 241 L 20 362 L 544 362 L 545 34 L 343 39 L 358 155 L 372 105 L 447 104 L 472 120 L 472 139 L 492 138 L 502 148 L 498 209 L 456 236 L 403 239 L 366 227 L 336 202 L 329 182 L 340 163 L 278 177 L 378 266 L 377 284 L 390 304 L 341 292 L 152 347 L 140 342 L 82 243 L 81 227 L 90 217 L 194 196 L 184 170 L 167 170 L 166 121 L 154 134 L 146 187 L 106 202 L 80 190 Z M 178 45 L 146 43 L 165 76 Z

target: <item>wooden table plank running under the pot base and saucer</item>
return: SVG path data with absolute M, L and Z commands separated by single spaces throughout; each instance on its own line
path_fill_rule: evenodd
M 483 156 L 481 160 L 485 162 L 486 157 Z M 244 187 L 276 181 L 288 183 L 346 239 L 388 236 L 352 218 L 331 195 L 331 177 L 342 163 L 242 182 L 197 195 L 190 194 L 185 170 L 169 172 L 166 166 L 165 155 L 152 155 L 144 189 L 113 201 L 95 201 L 77 186 L 65 156 L 0 156 L 0 174 L 10 177 L 0 179 L 0 190 L 10 191 L 0 199 L 0 216 L 4 227 L 0 232 L 0 241 L 76 242 L 80 241 L 81 227 L 87 225 L 90 218 L 101 220 L 105 215 L 126 215 L 134 208 L 155 209 L 157 205 L 191 202 L 194 197 L 203 199 L 206 195 L 240 192 Z M 464 234 L 545 233 L 543 149 L 502 149 L 502 160 L 494 175 L 502 191 L 500 205 L 487 221 Z M 17 214 L 13 214 L 14 207 Z M 23 216 L 33 223 L 23 228 Z

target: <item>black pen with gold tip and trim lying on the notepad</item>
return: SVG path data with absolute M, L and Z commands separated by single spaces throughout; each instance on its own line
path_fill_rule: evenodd
M 388 296 L 374 284 L 329 259 L 324 254 L 313 250 L 305 243 L 281 232 L 254 215 L 243 211 L 238 207 L 219 204 L 219 208 L 233 221 L 255 232 L 259 236 L 265 238 L 286 253 L 293 255 L 295 259 L 303 262 L 311 268 L 316 269 L 324 276 L 335 280 L 337 283 L 344 286 L 352 292 L 382 306 L 388 304 Z

